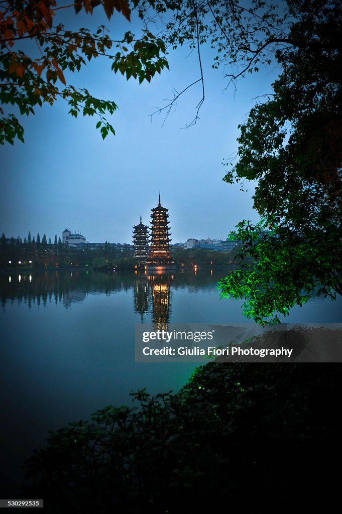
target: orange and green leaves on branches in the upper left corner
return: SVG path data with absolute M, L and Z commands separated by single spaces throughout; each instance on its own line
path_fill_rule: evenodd
M 104 26 L 91 33 L 86 28 L 75 32 L 62 24 L 54 24 L 59 9 L 74 7 L 76 13 L 84 9 L 92 14 L 99 5 L 109 20 L 114 10 L 130 20 L 127 0 L 76 0 L 63 7 L 57 7 L 56 0 L 1 2 L 0 102 L 17 106 L 21 115 L 30 115 L 44 102 L 52 105 L 63 98 L 72 116 L 82 113 L 99 117 L 96 127 L 101 127 L 102 138 L 109 132 L 114 134 L 105 116 L 114 113 L 115 102 L 96 98 L 86 88 L 77 89 L 67 84 L 65 71 L 79 71 L 88 61 L 105 57 L 115 73 L 119 71 L 127 79 L 134 77 L 141 83 L 143 80 L 150 82 L 168 63 L 164 57 L 165 43 L 144 27 L 139 39 L 128 31 L 121 40 L 113 41 Z M 27 49 L 23 44 L 26 40 L 36 44 L 38 53 Z M 0 143 L 13 144 L 15 138 L 24 141 L 24 130 L 17 117 L 6 114 L 2 108 L 0 115 Z

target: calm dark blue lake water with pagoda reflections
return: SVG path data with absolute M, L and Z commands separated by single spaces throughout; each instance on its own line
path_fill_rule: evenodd
M 0 274 L 3 495 L 49 430 L 86 419 L 130 391 L 177 391 L 195 364 L 134 362 L 135 323 L 242 323 L 241 302 L 219 300 L 224 270 L 143 273 L 30 271 Z M 295 307 L 289 323 L 340 323 L 342 298 Z M 6 494 L 8 492 L 8 494 Z

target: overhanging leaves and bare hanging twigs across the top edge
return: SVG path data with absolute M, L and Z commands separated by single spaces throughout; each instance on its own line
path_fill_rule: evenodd
M 89 14 L 102 6 L 109 20 L 114 11 L 130 20 L 131 10 L 135 10 L 142 35 L 137 39 L 128 31 L 120 40 L 113 40 L 104 26 L 92 33 L 86 28 L 75 32 L 54 24 L 57 11 L 73 6 L 76 13 L 84 9 Z M 247 7 L 244 2 L 225 0 L 76 0 L 63 7 L 57 7 L 56 0 L 5 0 L 0 3 L 0 102 L 16 105 L 21 115 L 30 115 L 44 102 L 52 105 L 63 98 L 72 116 L 98 115 L 96 126 L 101 127 L 104 138 L 114 133 L 105 116 L 114 113 L 115 102 L 67 84 L 65 72 L 79 71 L 92 59 L 107 58 L 115 73 L 138 79 L 139 83 L 150 82 L 168 67 L 167 48 L 188 44 L 196 48 L 199 57 L 200 78 L 193 84 L 202 82 L 203 91 L 193 121 L 196 122 L 204 101 L 201 44 L 207 43 L 215 50 L 214 68 L 231 66 L 226 77 L 234 80 L 246 71 L 257 71 L 260 63 L 271 62 L 270 51 L 287 41 L 287 16 L 283 9 L 267 6 L 263 0 L 252 0 Z M 38 47 L 38 53 L 34 54 L 32 48 L 26 50 L 24 43 L 29 40 L 35 43 L 32 48 Z M 158 110 L 170 112 L 184 91 Z M 23 140 L 23 127 L 16 116 L 5 115 L 3 110 L 0 114 L 0 143 Z

